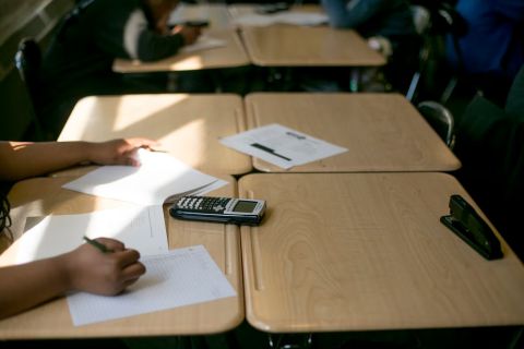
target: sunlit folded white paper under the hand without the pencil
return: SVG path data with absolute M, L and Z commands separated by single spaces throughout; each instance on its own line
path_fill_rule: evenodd
M 139 156 L 140 167 L 103 166 L 63 188 L 139 205 L 160 205 L 180 195 L 194 191 L 202 195 L 227 184 L 166 153 L 141 149 Z

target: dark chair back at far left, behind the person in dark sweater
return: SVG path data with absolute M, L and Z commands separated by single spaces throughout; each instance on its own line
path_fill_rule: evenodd
M 35 100 L 38 94 L 38 75 L 41 64 L 40 47 L 33 38 L 24 38 L 19 44 L 14 56 L 14 65 L 19 71 L 20 79 L 25 84 L 33 105 L 33 127 L 35 136 L 43 137 L 40 122 L 36 113 Z

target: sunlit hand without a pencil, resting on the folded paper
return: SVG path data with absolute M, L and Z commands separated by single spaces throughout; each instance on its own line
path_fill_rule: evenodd
M 103 143 L 90 143 L 90 161 L 98 165 L 140 166 L 136 158 L 139 148 L 150 148 L 157 142 L 146 139 L 112 140 Z

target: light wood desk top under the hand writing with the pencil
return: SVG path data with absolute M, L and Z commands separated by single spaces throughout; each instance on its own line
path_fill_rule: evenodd
M 236 183 L 210 195 L 236 195 Z M 122 207 L 123 202 L 91 196 L 61 185 L 71 178 L 37 178 L 19 182 L 10 192 L 13 232 L 20 236 L 25 217 L 49 214 L 78 214 Z M 234 225 L 181 221 L 170 218 L 165 207 L 169 248 L 203 244 L 225 273 L 238 297 L 121 320 L 74 327 L 66 298 L 57 299 L 22 314 L 0 321 L 0 339 L 133 337 L 159 335 L 213 334 L 235 328 L 243 320 L 240 241 Z M 0 256 L 10 264 L 13 251 Z

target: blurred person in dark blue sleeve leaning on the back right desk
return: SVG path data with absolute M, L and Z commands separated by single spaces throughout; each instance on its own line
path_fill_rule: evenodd
M 386 79 L 405 91 L 415 71 L 419 40 L 406 0 L 322 0 L 330 25 L 355 29 L 389 58 Z

